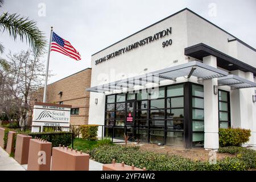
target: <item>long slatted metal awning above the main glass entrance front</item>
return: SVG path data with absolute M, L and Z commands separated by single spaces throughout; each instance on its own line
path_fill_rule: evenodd
M 191 61 L 189 63 L 176 65 L 174 67 L 161 69 L 159 71 L 110 82 L 108 84 L 93 86 L 92 88 L 88 88 L 86 90 L 89 92 L 100 93 L 113 92 L 115 90 L 115 92 L 121 93 L 131 90 L 149 88 L 150 86 L 158 86 L 160 81 L 163 80 L 176 81 L 177 77 L 189 78 L 191 76 L 195 76 L 201 80 L 207 80 L 210 78 L 228 76 L 228 72 L 211 67 L 207 64 L 200 63 L 199 61 Z

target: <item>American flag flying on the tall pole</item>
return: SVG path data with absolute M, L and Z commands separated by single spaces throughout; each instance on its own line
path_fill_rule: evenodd
M 77 61 L 81 60 L 80 53 L 67 40 L 52 32 L 51 51 L 63 53 Z

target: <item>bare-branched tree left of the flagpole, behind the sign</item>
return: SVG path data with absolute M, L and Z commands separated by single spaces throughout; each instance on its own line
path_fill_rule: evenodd
M 18 114 L 20 126 L 25 126 L 28 111 L 32 110 L 30 97 L 43 86 L 45 69 L 40 54 L 32 51 L 21 51 L 7 55 L 7 69 L 2 69 L 2 97 L 0 108 L 13 116 Z M 17 107 L 16 107 L 17 106 Z M 18 111 L 15 110 L 18 108 Z M 8 116 L 8 115 L 7 115 Z

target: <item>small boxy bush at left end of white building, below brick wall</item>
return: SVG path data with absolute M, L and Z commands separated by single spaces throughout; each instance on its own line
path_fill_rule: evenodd
M 95 141 L 98 135 L 98 125 L 81 125 L 82 139 Z

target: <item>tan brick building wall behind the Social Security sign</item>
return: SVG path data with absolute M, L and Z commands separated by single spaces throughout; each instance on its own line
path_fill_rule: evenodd
M 72 105 L 71 125 L 88 124 L 90 93 L 85 89 L 90 88 L 90 76 L 91 69 L 86 68 L 47 86 L 48 103 Z M 34 100 L 43 101 L 43 89 L 36 92 Z

